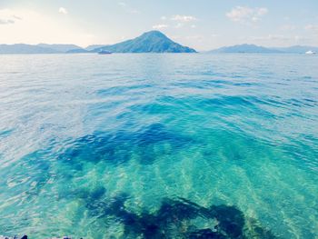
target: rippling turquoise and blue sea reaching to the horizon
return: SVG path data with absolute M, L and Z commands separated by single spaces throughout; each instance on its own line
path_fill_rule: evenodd
M 0 65 L 0 234 L 317 236 L 316 55 Z

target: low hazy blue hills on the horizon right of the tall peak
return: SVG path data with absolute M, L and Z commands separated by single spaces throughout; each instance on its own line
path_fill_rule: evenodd
M 293 45 L 289 47 L 263 47 L 260 45 L 232 45 L 224 46 L 208 53 L 259 53 L 259 54 L 273 54 L 273 53 L 293 53 L 304 54 L 307 51 L 318 52 L 318 47 L 308 45 Z

